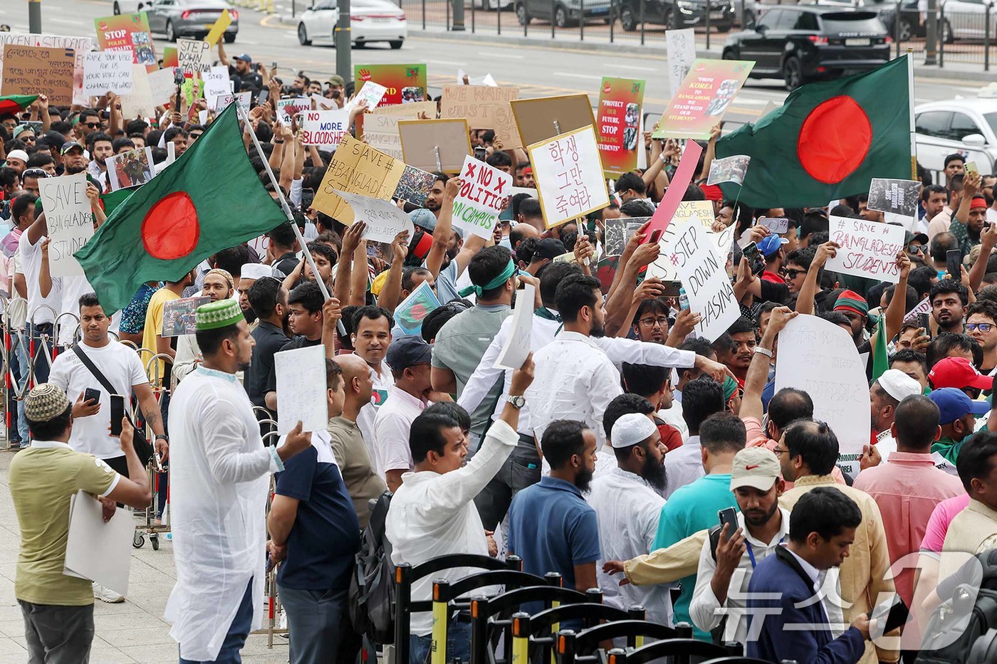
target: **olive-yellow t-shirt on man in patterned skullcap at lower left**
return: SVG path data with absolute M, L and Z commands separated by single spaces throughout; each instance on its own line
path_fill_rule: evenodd
M 106 496 L 119 480 L 103 461 L 65 443 L 35 441 L 11 460 L 10 495 L 21 526 L 14 581 L 18 599 L 56 606 L 94 603 L 90 581 L 62 573 L 70 499 L 80 490 Z

